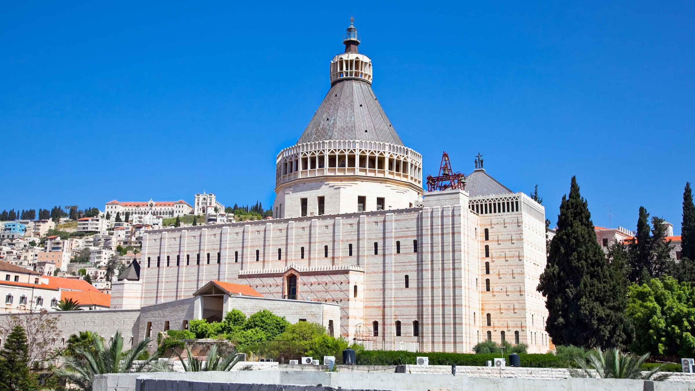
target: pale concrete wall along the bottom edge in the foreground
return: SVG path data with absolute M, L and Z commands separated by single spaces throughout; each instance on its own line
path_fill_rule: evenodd
M 512 375 L 511 372 L 507 373 Z M 517 374 L 518 375 L 518 374 Z M 448 391 L 692 391 L 695 375 L 673 374 L 672 381 L 641 381 L 601 378 L 472 377 L 466 374 L 395 374 L 384 372 L 236 371 L 158 372 L 108 374 L 95 378 L 94 391 L 137 391 L 138 381 L 157 380 L 151 390 L 167 391 L 280 391 L 276 385 L 306 386 L 295 391 L 313 391 L 309 386 L 353 390 L 448 390 Z M 181 388 L 179 388 L 181 384 Z M 236 384 L 237 388 L 227 385 Z M 224 386 L 223 386 L 224 385 Z M 263 388 L 260 385 L 272 385 Z M 154 385 L 152 385 L 154 387 Z M 227 388 L 224 388 L 227 387 Z M 235 386 L 236 387 L 236 386 Z M 318 389 L 317 389 L 318 390 Z M 323 390 L 323 388 L 321 389 Z M 143 391 L 143 390 L 140 390 Z M 285 391 L 288 391 L 285 388 Z

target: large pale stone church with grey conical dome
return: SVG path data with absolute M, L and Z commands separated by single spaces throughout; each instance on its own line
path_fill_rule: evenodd
M 536 291 L 545 209 L 491 177 L 480 154 L 469 175 L 444 154 L 423 182 L 423 157 L 379 104 L 360 39 L 351 22 L 327 95 L 277 154 L 273 218 L 148 231 L 142 264 L 114 283 L 111 308 L 189 298 L 217 280 L 289 306 L 337 304 L 329 333 L 368 349 L 468 353 L 484 340 L 552 349 Z M 223 316 L 226 299 L 202 300 L 204 317 Z M 142 321 L 185 327 L 165 317 Z

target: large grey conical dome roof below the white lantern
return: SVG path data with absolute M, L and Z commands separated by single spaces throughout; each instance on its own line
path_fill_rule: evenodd
M 297 144 L 324 140 L 403 145 L 370 84 L 352 79 L 338 81 L 331 87 Z

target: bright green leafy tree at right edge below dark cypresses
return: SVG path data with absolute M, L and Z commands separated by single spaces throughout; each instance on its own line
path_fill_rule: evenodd
M 630 286 L 627 315 L 635 326 L 630 350 L 690 357 L 695 354 L 695 289 L 671 276 Z

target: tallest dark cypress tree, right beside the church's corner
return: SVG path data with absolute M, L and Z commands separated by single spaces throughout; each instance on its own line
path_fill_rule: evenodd
M 626 280 L 616 279 L 623 269 L 606 260 L 587 201 L 572 177 L 537 288 L 547 298 L 546 331 L 556 345 L 623 346 L 629 333 L 624 315 Z

